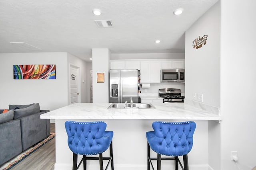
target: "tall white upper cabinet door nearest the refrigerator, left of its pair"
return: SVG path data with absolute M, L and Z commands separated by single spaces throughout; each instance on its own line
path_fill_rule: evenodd
M 140 62 L 140 83 L 150 83 L 150 61 Z

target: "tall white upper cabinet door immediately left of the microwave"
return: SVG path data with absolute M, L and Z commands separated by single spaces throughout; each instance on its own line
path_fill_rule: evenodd
M 161 82 L 161 65 L 160 61 L 150 61 L 150 83 Z

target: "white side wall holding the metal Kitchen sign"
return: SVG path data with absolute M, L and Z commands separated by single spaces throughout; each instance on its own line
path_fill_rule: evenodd
M 206 45 L 194 49 L 192 41 L 208 35 Z M 185 93 L 203 94 L 203 103 L 220 107 L 220 3 L 217 2 L 187 31 L 185 45 Z

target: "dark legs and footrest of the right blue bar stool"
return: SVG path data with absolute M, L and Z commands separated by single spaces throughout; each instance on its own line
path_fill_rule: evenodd
M 157 158 L 151 158 L 150 157 L 150 146 L 148 144 L 148 170 L 150 170 L 150 165 L 152 166 L 152 169 L 154 170 L 154 166 L 152 164 L 151 160 L 157 160 L 157 170 L 161 170 L 161 160 L 175 160 L 175 170 L 178 170 L 178 165 L 180 164 L 180 167 L 182 170 L 188 170 L 188 154 L 183 155 L 183 164 L 182 166 L 180 159 L 178 156 L 170 157 L 170 158 L 161 158 L 161 154 L 157 154 Z

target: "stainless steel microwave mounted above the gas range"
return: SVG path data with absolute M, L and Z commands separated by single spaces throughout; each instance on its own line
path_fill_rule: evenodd
M 161 82 L 184 82 L 184 69 L 161 70 Z

